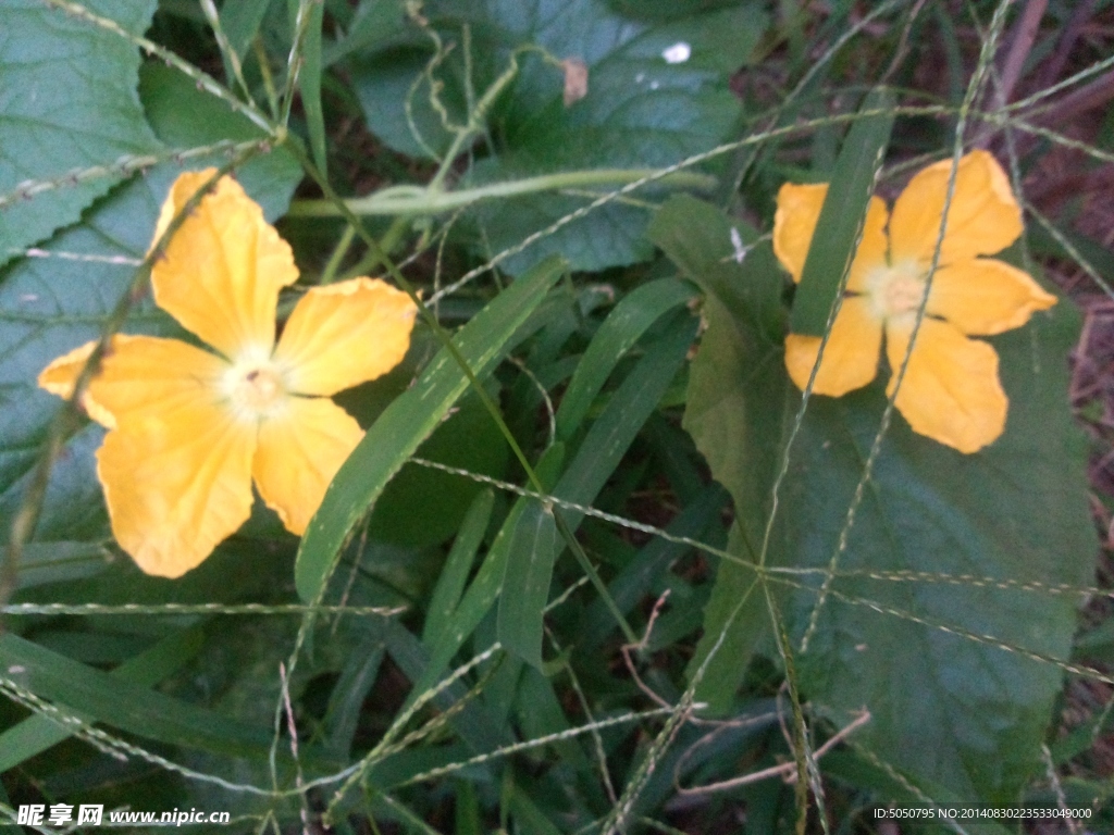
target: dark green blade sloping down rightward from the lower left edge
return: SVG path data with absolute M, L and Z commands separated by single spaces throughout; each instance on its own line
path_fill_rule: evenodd
M 0 637 L 0 668 L 40 698 L 148 739 L 241 757 L 266 757 L 270 750 L 267 728 L 148 690 L 14 635 Z

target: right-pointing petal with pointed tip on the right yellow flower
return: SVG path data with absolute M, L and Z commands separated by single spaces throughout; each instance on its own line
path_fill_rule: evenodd
M 941 267 L 932 278 L 928 312 L 966 334 L 989 335 L 1020 327 L 1034 311 L 1056 304 L 1028 273 L 996 258 Z

